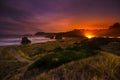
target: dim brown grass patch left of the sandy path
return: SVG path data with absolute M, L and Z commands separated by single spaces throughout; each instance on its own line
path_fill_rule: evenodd
M 0 47 L 0 79 L 15 72 L 25 66 L 25 62 L 20 62 L 11 51 L 11 47 Z

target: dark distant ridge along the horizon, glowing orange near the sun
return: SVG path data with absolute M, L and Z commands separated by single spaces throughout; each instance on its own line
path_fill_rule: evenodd
M 96 30 L 89 30 L 89 29 L 74 29 L 68 32 L 60 32 L 60 33 L 45 33 L 45 32 L 37 32 L 35 35 L 40 36 L 48 36 L 48 35 L 62 35 L 64 37 L 82 37 L 85 32 L 90 32 L 96 36 L 103 37 L 103 36 L 113 36 L 119 37 L 120 36 L 120 23 L 114 23 L 108 29 L 96 29 Z

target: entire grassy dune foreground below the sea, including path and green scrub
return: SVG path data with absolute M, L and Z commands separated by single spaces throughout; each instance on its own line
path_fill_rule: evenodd
M 0 62 L 0 69 L 5 71 L 0 77 L 1 80 L 6 76 L 4 80 L 119 80 L 119 45 L 120 39 L 68 38 L 0 47 L 0 60 L 7 60 Z

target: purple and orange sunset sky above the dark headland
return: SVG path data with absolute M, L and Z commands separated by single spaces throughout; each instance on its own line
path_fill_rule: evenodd
M 0 34 L 105 29 L 120 22 L 120 0 L 0 0 Z

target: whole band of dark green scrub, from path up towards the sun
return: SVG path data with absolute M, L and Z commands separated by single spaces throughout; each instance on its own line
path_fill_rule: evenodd
M 51 54 L 45 55 L 33 63 L 28 70 L 38 68 L 41 72 L 56 68 L 70 61 L 86 58 L 96 55 L 95 50 L 99 47 L 92 41 L 87 41 L 80 44 L 73 44 L 71 47 L 56 47 L 51 50 Z M 54 60 L 57 59 L 57 60 Z

